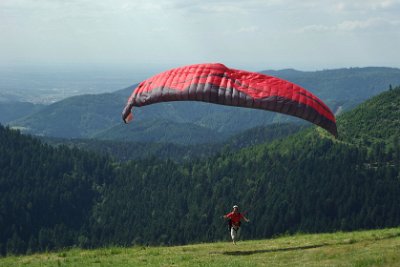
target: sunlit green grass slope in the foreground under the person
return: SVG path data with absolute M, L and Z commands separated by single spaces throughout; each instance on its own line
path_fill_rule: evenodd
M 0 266 L 400 266 L 400 228 L 297 234 L 236 246 L 69 249 L 3 257 Z

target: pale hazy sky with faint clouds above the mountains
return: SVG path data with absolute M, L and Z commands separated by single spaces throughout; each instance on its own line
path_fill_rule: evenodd
M 400 0 L 0 0 L 1 65 L 400 67 Z

